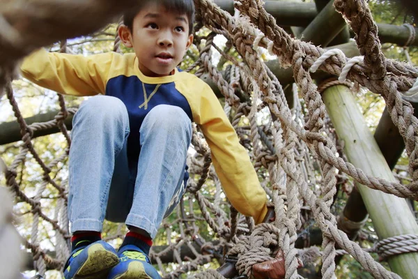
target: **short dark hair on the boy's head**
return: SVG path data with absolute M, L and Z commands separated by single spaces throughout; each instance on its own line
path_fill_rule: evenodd
M 127 26 L 132 32 L 134 17 L 141 11 L 144 6 L 149 3 L 157 3 L 164 6 L 167 10 L 172 13 L 179 13 L 187 15 L 187 20 L 189 20 L 189 34 L 193 32 L 193 23 L 194 23 L 194 3 L 193 0 L 142 0 L 138 1 L 134 10 L 129 10 L 123 14 L 123 24 Z

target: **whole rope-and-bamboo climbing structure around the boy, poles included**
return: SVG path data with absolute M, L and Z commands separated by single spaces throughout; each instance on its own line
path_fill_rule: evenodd
M 412 201 L 418 198 L 418 122 L 411 105 L 414 94 L 418 92 L 418 69 L 408 63 L 385 58 L 378 28 L 366 1 L 335 0 L 327 3 L 318 0 L 315 4 L 309 3 L 311 12 L 303 14 L 307 27 L 302 33 L 297 33 L 296 29 L 293 33 L 312 43 L 288 35 L 277 25 L 274 13 L 266 11 L 269 7 L 274 10 L 274 5 L 296 9 L 296 3 L 291 6 L 287 2 L 268 1 L 263 6 L 261 1 L 255 0 L 194 2 L 198 22 L 196 29 L 206 27 L 210 33 L 196 37 L 199 58 L 186 70 L 193 70 L 196 75 L 208 80 L 219 96 L 225 98 L 225 111 L 242 144 L 249 149 L 254 167 L 274 206 L 276 218 L 273 223 L 255 227 L 253 220 L 243 218 L 224 201 L 222 188 L 210 167 L 210 151 L 196 128 L 192 140 L 196 154 L 189 158 L 190 173 L 195 179 L 190 179 L 188 193 L 178 206 L 176 218 L 162 225 L 167 246 L 153 248 L 150 255 L 162 275 L 176 278 L 187 271 L 199 269 L 201 273 L 196 273 L 198 278 L 222 278 L 221 273 L 203 270 L 200 266 L 212 259 L 224 262 L 223 252 L 228 251 L 231 255 L 229 260 L 235 260 L 233 256 L 236 256 L 238 272 L 249 277 L 254 264 L 273 259 L 280 248 L 284 252 L 286 278 L 298 278 L 297 257 L 305 264 L 321 257 L 322 277 L 335 278 L 335 259 L 344 253 L 352 255 L 365 271 L 376 278 L 414 278 L 418 266 L 418 225 L 405 198 Z M 20 113 L 10 80 L 15 77 L 17 61 L 26 54 L 57 40 L 63 40 L 61 51 L 65 52 L 64 39 L 91 33 L 114 21 L 115 16 L 123 8 L 134 5 L 134 1 L 91 0 L 77 3 L 77 6 L 63 1 L 60 4 L 33 1 L 26 6 L 19 3 L 10 1 L 9 5 L 6 3 L 0 8 L 0 20 L 4 20 L 0 24 L 0 86 L 13 106 L 22 140 L 19 156 L 7 166 L 6 183 L 17 202 L 24 202 L 30 208 L 31 236 L 24 239 L 24 245 L 33 253 L 35 269 L 44 275 L 47 269 L 61 269 L 69 253 L 65 207 L 67 181 L 65 176 L 59 175 L 62 169 L 56 166 L 65 162 L 68 156 L 71 142 L 69 122 L 77 109 L 66 108 L 65 99 L 59 95 L 61 110 L 54 119 L 29 124 Z M 227 12 L 234 13 L 233 4 L 235 15 Z M 303 11 L 309 10 L 308 6 L 305 8 Z M 39 10 L 43 12 L 42 17 Z M 283 8 L 282 13 L 283 10 L 286 9 Z M 353 49 L 350 43 L 340 48 L 332 47 L 331 50 L 317 47 L 328 45 L 333 40 L 339 43 L 348 41 L 350 33 L 341 15 L 346 17 L 355 33 L 357 48 Z M 274 16 L 277 20 L 281 18 Z M 74 24 L 73 18 L 79 19 L 77 24 Z M 294 13 L 288 18 L 294 20 Z M 17 24 L 20 20 L 26 24 Z M 332 29 L 324 32 L 327 24 Z M 387 30 L 390 28 L 394 27 L 387 27 Z M 394 43 L 418 45 L 414 27 L 405 25 L 398 28 L 403 36 L 398 36 L 398 41 Z M 385 26 L 381 26 L 379 31 L 382 29 Z M 216 34 L 229 40 L 226 49 L 216 46 Z M 114 46 L 114 51 L 119 51 L 118 38 Z M 277 56 L 275 63 L 279 63 L 281 69 L 264 63 L 259 47 Z M 238 52 L 239 59 L 229 54 L 231 49 Z M 212 63 L 213 51 L 221 53 L 224 59 L 231 62 L 223 72 Z M 324 80 L 324 74 L 316 74 L 317 69 L 338 79 Z M 313 82 L 312 75 L 316 75 L 318 86 Z M 284 90 L 281 84 L 289 76 L 294 79 L 295 85 L 288 87 L 292 90 Z M 396 151 L 397 156 L 388 154 L 395 149 L 394 143 L 389 142 L 393 145 L 388 151 L 382 149 L 385 141 L 373 138 L 350 92 L 353 83 L 354 88 L 365 86 L 385 99 L 386 114 L 383 114 L 382 120 L 386 117 L 386 121 L 389 119 L 389 123 L 398 128 L 398 137 L 403 140 L 397 145 L 401 148 L 397 148 L 402 151 L 402 143 L 405 142 L 410 158 L 408 172 L 412 181 L 408 185 L 398 183 L 391 171 L 401 151 Z M 302 96 L 304 107 L 297 96 Z M 259 125 L 262 112 L 268 112 L 270 116 L 268 121 Z M 248 119 L 249 126 L 242 126 L 243 118 Z M 380 123 L 382 128 L 376 130 L 375 137 L 378 133 L 387 137 L 389 124 Z M 50 133 L 45 130 L 52 128 L 59 128 L 67 147 L 46 164 L 33 145 L 33 138 L 38 131 Z M 336 156 L 337 153 L 339 156 Z M 28 154 L 43 172 L 42 183 L 38 184 L 35 195 L 25 193 L 17 182 L 17 169 L 24 166 Z M 355 181 L 358 191 L 353 190 L 346 209 L 336 218 L 332 211 L 334 197 L 337 189 L 347 183 L 348 177 Z M 215 188 L 214 193 L 206 193 L 208 186 Z M 46 189 L 56 197 L 54 211 L 42 206 L 45 202 L 42 193 Z M 199 206 L 200 216 L 196 213 L 196 206 Z M 364 210 L 353 213 L 349 206 Z M 353 240 L 366 222 L 367 214 L 373 220 L 379 241 L 373 248 L 364 250 Z M 313 220 L 320 230 L 320 241 L 316 243 L 322 246 L 320 250 L 306 241 L 306 237 L 309 240 L 311 236 L 309 234 L 304 236 L 305 243 L 297 244 L 301 239 L 300 232 L 307 229 L 309 220 Z M 40 246 L 42 222 L 48 223 L 55 232 L 54 257 Z M 207 223 L 216 239 L 201 236 L 199 227 L 202 223 Z M 120 225 L 116 232 L 107 232 L 107 240 L 123 236 L 123 229 Z M 393 272 L 376 262 L 369 252 L 378 252 Z M 167 262 L 176 262 L 176 268 L 169 270 L 165 265 Z

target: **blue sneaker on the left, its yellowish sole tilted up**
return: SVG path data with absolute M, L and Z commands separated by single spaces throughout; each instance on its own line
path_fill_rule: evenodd
M 107 278 L 109 270 L 118 262 L 118 255 L 113 247 L 104 241 L 96 241 L 71 252 L 64 266 L 64 278 Z

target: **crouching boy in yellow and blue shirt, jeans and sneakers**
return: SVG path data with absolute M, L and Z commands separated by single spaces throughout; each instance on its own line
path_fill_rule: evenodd
M 210 87 L 176 66 L 192 44 L 192 0 L 141 1 L 118 29 L 133 54 L 47 53 L 27 58 L 24 77 L 48 89 L 94 96 L 73 119 L 68 278 L 160 278 L 148 252 L 162 218 L 185 192 L 192 121 L 201 126 L 233 206 L 261 223 L 266 195 Z M 101 241 L 104 218 L 125 222 L 118 252 Z M 106 277 L 108 276 L 108 277 Z

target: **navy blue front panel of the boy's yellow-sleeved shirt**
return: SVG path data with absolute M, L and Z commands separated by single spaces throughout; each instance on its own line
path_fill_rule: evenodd
M 146 96 L 149 98 L 158 84 L 145 84 Z M 157 105 L 174 105 L 180 107 L 193 121 L 192 109 L 187 99 L 176 89 L 174 82 L 161 84 L 157 92 L 148 100 L 148 107 L 140 105 L 144 104 L 144 91 L 142 82 L 136 76 L 125 77 L 120 75 L 113 77 L 107 82 L 106 95 L 114 96 L 122 100 L 127 108 L 130 123 L 130 135 L 127 138 L 127 158 L 130 163 L 137 162 L 141 146 L 139 139 L 141 137 L 139 129 L 145 116 L 153 107 Z

